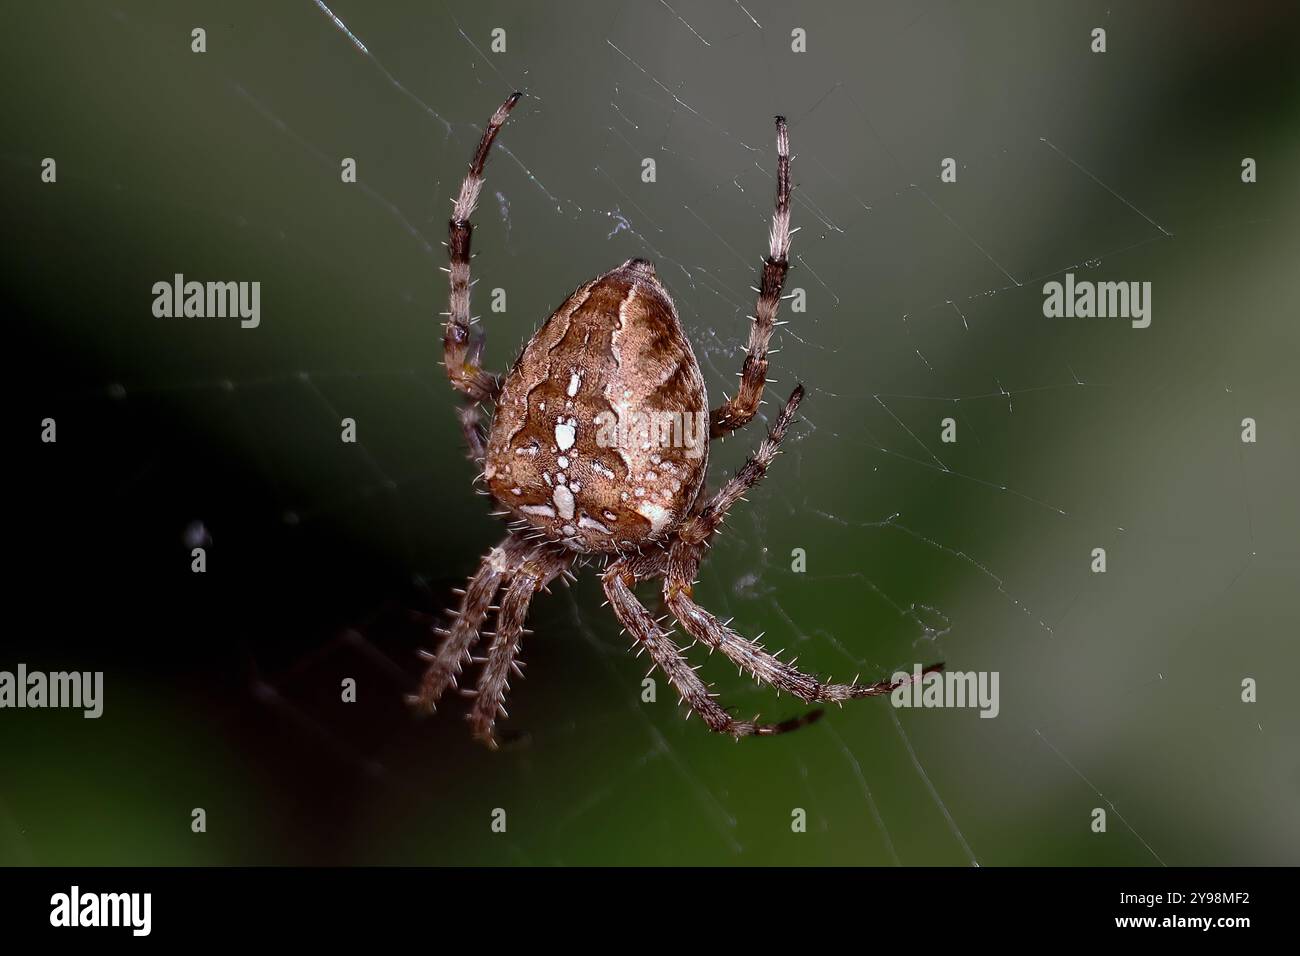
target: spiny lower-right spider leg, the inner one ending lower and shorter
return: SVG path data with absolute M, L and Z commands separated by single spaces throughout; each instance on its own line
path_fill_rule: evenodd
M 708 692 L 708 685 L 701 680 L 696 670 L 686 663 L 681 650 L 672 643 L 667 631 L 662 630 L 650 611 L 632 593 L 632 572 L 624 561 L 616 561 L 603 576 L 604 593 L 628 632 L 650 652 L 650 657 L 676 688 L 681 698 L 694 710 L 710 730 L 718 734 L 731 734 L 734 737 L 751 735 L 771 736 L 797 730 L 811 723 L 820 714 L 814 711 L 781 723 L 758 723 L 757 721 L 736 721 Z

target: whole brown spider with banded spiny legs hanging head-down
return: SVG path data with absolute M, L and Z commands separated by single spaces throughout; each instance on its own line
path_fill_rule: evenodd
M 433 711 L 443 692 L 458 685 L 462 667 L 481 663 L 477 689 L 465 692 L 473 697 L 469 722 L 473 735 L 495 748 L 497 718 L 507 715 L 503 701 L 510 676 L 523 675 L 516 656 L 523 635 L 529 633 L 524 630 L 529 602 L 556 578 L 573 579 L 575 562 L 590 558 L 604 561 L 602 585 L 624 630 L 650 653 L 690 710 L 719 734 L 737 739 L 784 734 L 816 719 L 820 710 L 781 723 L 733 718 L 686 662 L 672 632 L 637 600 L 634 585 L 662 579 L 664 605 L 696 643 L 720 650 L 757 680 L 807 704 L 887 695 L 907 683 L 823 683 L 738 635 L 696 604 L 693 594 L 712 536 L 728 510 L 767 472 L 803 399 L 803 386 L 797 385 L 758 451 L 720 489 L 706 492 L 708 441 L 746 425 L 763 397 L 767 343 L 789 269 L 790 234 L 797 232 L 790 229 L 784 117 L 776 117 L 776 211 L 750 316 L 749 354 L 734 398 L 710 411 L 676 307 L 645 259 L 629 259 L 580 286 L 524 346 L 504 378 L 484 371 L 484 334 L 472 329 L 476 320 L 469 313 L 469 217 L 493 140 L 520 96 L 512 94 L 493 114 L 455 200 L 446 269 L 450 311 L 442 339 L 447 377 L 467 399 L 459 415 L 469 457 L 503 509 L 497 514 L 515 520 L 506 540 L 458 591 L 460 606 L 452 611 L 451 626 L 437 631 L 438 649 L 421 652 L 429 663 L 412 704 Z M 486 442 L 478 428 L 484 402 L 495 406 Z M 645 427 L 619 428 L 633 421 Z M 664 423 L 680 428 L 666 432 Z M 686 423 L 698 432 L 694 445 Z M 685 440 L 673 441 L 675 436 Z M 497 611 L 497 630 L 488 635 L 482 627 L 491 611 Z M 485 658 L 474 658 L 481 636 L 490 636 L 491 644 Z

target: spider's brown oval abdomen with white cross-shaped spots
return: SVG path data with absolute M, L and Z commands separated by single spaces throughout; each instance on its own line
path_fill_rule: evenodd
M 524 347 L 484 476 L 541 535 L 616 553 L 686 516 L 707 459 L 699 363 L 654 267 L 632 259 L 575 291 Z

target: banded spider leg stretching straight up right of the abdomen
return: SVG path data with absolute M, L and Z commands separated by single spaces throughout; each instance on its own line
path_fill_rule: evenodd
M 789 271 L 790 255 L 790 138 L 785 117 L 776 117 L 776 209 L 768 237 L 768 254 L 763 260 L 758 302 L 749 326 L 749 352 L 741 365 L 740 390 L 733 398 L 714 408 L 708 416 L 708 437 L 720 438 L 749 424 L 763 401 L 767 381 L 767 343 L 776 325 L 781 289 Z

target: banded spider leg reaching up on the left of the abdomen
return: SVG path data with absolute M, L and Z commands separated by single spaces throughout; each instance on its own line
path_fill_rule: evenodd
M 494 401 L 500 390 L 500 381 L 495 375 L 484 371 L 481 359 L 485 336 L 471 330 L 474 320 L 469 315 L 469 237 L 473 232 L 469 217 L 478 204 L 488 152 L 520 95 L 511 94 L 488 121 L 474 157 L 469 163 L 469 172 L 465 174 L 464 182 L 460 183 L 460 195 L 456 198 L 456 207 L 451 212 L 451 222 L 448 224 L 447 256 L 450 265 L 447 272 L 451 276 L 451 295 L 447 307 L 447 325 L 442 333 L 443 364 L 447 367 L 447 378 L 451 381 L 451 386 L 468 399 L 460 412 L 460 424 L 469 444 L 469 453 L 476 460 L 481 460 L 484 457 L 482 438 L 478 434 L 478 403 Z

